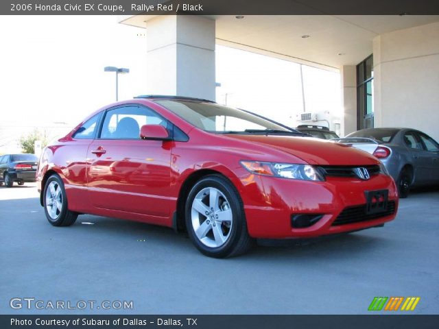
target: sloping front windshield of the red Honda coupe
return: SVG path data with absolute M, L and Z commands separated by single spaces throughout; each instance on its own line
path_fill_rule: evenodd
M 228 108 L 217 103 L 198 101 L 156 100 L 161 106 L 171 110 L 187 122 L 207 132 L 255 133 L 261 131 L 297 134 L 282 125 L 265 120 L 243 110 Z

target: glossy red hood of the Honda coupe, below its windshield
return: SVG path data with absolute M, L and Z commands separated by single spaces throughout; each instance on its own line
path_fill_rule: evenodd
M 379 160 L 364 151 L 317 138 L 250 134 L 226 134 L 224 136 L 275 147 L 278 150 L 297 156 L 309 164 L 367 165 L 379 163 Z

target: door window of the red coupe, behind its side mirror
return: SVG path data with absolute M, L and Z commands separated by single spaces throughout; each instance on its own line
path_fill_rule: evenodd
M 100 138 L 110 139 L 140 139 L 142 125 L 163 125 L 167 121 L 156 112 L 143 106 L 124 106 L 106 112 Z

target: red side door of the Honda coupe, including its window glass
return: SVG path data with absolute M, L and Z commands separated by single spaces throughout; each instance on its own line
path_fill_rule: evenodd
M 145 106 L 106 111 L 88 148 L 88 193 L 96 208 L 169 216 L 172 142 L 140 139 L 140 127 L 167 121 Z

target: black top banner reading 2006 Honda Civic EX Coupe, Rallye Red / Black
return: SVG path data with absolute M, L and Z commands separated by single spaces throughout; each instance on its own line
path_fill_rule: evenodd
M 1 15 L 437 15 L 438 0 L 10 0 Z

